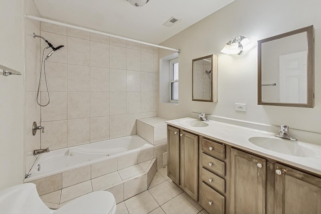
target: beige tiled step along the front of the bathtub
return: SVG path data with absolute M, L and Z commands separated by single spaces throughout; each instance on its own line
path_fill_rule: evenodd
M 147 190 L 156 171 L 156 158 L 153 158 L 57 191 L 43 194 L 40 198 L 49 208 L 56 209 L 81 195 L 92 191 L 106 190 L 114 195 L 116 203 L 120 203 Z M 48 183 L 44 183 L 44 185 L 48 185 Z

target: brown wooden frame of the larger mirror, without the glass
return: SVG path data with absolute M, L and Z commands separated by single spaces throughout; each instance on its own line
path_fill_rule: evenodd
M 306 32 L 306 42 L 307 42 L 307 59 L 306 59 L 306 103 L 273 103 L 273 102 L 262 102 L 262 43 L 285 38 L 299 33 Z M 289 106 L 289 107 L 305 107 L 313 108 L 314 106 L 314 28 L 313 26 L 308 26 L 295 31 L 290 31 L 284 34 L 280 34 L 274 37 L 259 40 L 257 46 L 257 60 L 258 60 L 258 75 L 257 75 L 257 104 L 258 105 L 272 105 L 272 106 Z

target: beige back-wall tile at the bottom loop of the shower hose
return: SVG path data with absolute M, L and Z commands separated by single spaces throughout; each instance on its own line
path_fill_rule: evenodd
M 48 94 L 41 93 L 42 104 L 48 102 Z M 42 121 L 55 121 L 67 119 L 67 92 L 50 92 L 50 103 L 41 107 Z

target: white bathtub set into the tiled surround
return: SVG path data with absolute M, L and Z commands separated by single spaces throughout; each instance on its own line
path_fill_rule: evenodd
M 138 135 L 130 135 L 53 150 L 39 155 L 24 182 L 153 147 Z

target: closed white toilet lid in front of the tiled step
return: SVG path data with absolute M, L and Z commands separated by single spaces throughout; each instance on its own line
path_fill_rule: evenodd
M 112 193 L 108 191 L 94 191 L 80 196 L 59 209 L 54 213 L 99 213 L 106 214 L 115 210 L 116 202 Z

